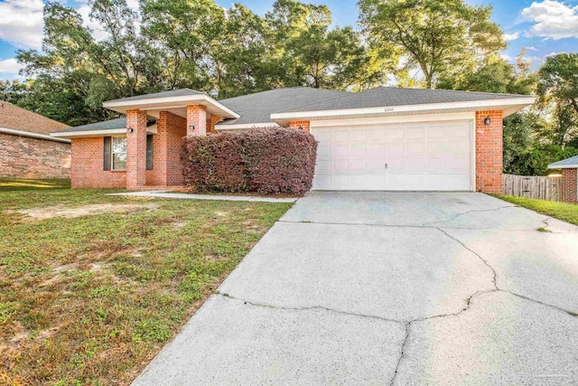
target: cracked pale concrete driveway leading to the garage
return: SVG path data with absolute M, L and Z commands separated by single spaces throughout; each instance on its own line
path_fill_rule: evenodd
M 577 314 L 577 227 L 480 193 L 310 193 L 135 384 L 576 384 Z

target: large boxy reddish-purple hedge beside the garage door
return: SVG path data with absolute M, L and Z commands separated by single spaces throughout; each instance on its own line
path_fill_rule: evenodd
M 197 192 L 303 194 L 312 187 L 317 142 L 293 128 L 256 128 L 184 140 L 185 184 Z

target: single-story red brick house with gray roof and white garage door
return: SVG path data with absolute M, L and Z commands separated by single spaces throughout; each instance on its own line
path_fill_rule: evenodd
M 294 127 L 318 140 L 315 190 L 501 193 L 502 119 L 534 97 L 378 87 L 272 89 L 215 100 L 192 89 L 104 103 L 126 119 L 73 127 L 73 187 L 182 185 L 182 137 Z

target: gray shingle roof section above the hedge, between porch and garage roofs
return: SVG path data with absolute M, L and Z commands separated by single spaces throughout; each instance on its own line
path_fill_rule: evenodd
M 275 111 L 285 108 L 296 108 L 312 101 L 333 99 L 343 95 L 350 95 L 350 92 L 334 89 L 294 87 L 289 89 L 271 89 L 241 97 L 221 99 L 219 100 L 220 103 L 241 116 L 237 119 L 227 119 L 221 124 L 241 125 L 273 122 L 271 114 Z

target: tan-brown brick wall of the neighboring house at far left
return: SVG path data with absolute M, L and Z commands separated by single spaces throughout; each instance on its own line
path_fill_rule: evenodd
M 70 144 L 0 133 L 0 177 L 70 178 Z

